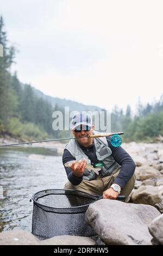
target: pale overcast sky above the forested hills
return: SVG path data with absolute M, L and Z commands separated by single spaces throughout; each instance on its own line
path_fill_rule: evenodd
M 163 94 L 163 2 L 0 0 L 23 83 L 46 95 L 135 109 Z

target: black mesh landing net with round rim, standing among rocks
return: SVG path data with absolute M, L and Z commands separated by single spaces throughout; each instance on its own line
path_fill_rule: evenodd
M 77 190 L 44 190 L 33 195 L 32 233 L 39 239 L 58 235 L 95 235 L 85 212 L 99 196 Z

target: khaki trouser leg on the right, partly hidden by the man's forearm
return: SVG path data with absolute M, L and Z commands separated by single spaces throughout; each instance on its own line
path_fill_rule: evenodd
M 103 178 L 104 184 L 105 184 L 105 190 L 108 190 L 110 188 L 111 184 L 114 183 L 115 178 L 120 173 L 121 168 L 117 168 L 114 173 L 111 176 Z M 110 178 L 109 178 L 110 177 Z M 133 190 L 135 185 L 135 174 L 131 176 L 127 184 L 122 188 L 120 195 L 126 196 L 125 202 L 127 203 L 129 201 L 129 194 Z

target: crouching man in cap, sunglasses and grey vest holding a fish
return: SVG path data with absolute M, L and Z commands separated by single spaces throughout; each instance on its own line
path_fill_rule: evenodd
M 133 159 L 123 148 L 112 146 L 110 137 L 85 137 L 98 133 L 86 113 L 74 115 L 71 130 L 77 139 L 71 139 L 66 145 L 62 162 L 79 160 L 79 163 L 73 162 L 71 168 L 65 167 L 68 182 L 64 188 L 99 194 L 104 199 L 116 199 L 121 194 L 128 202 L 135 184 Z M 86 163 L 94 166 L 101 163 L 103 168 L 97 175 L 93 170 L 85 169 Z

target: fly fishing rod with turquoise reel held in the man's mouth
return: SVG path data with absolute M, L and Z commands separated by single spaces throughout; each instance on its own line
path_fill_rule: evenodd
M 9 146 L 15 146 L 15 145 L 23 145 L 23 144 L 34 144 L 39 142 L 52 142 L 52 141 L 65 141 L 66 139 L 79 139 L 79 138 L 98 138 L 98 137 L 106 137 L 111 136 L 110 142 L 114 147 L 118 147 L 122 144 L 122 139 L 119 135 L 122 135 L 124 132 L 110 132 L 110 133 L 97 133 L 94 135 L 87 135 L 84 137 L 71 137 L 71 138 L 61 138 L 61 139 L 48 139 L 46 141 L 31 141 L 31 142 L 20 142 L 20 143 L 14 143 L 14 144 L 4 144 L 0 145 L 0 147 L 9 147 Z

